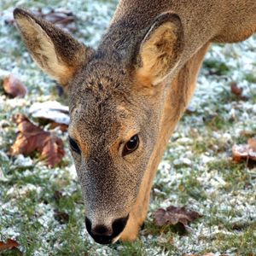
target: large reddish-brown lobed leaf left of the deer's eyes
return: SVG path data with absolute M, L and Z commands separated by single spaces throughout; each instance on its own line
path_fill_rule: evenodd
M 38 151 L 41 154 L 41 158 L 50 167 L 54 167 L 61 162 L 65 151 L 60 138 L 33 125 L 25 115 L 18 114 L 15 117 L 15 122 L 18 125 L 19 134 L 10 149 L 11 155 L 27 155 Z

